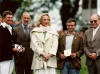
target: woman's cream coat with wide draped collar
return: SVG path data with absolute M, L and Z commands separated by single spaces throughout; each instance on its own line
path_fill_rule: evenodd
M 46 31 L 44 37 L 43 32 Z M 47 67 L 57 67 L 56 52 L 58 48 L 58 34 L 50 27 L 34 28 L 31 32 L 31 48 L 34 51 L 32 69 L 42 69 Z M 45 62 L 42 53 L 49 53 L 53 56 Z

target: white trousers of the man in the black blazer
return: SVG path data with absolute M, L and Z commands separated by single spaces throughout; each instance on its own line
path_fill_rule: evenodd
M 14 60 L 7 60 L 0 62 L 0 74 L 12 74 L 14 67 Z

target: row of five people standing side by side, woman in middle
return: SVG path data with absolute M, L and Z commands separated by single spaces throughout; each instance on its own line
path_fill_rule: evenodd
M 100 74 L 100 16 L 90 17 L 91 28 L 80 35 L 76 20 L 66 21 L 66 30 L 51 27 L 48 13 L 41 14 L 34 25 L 28 12 L 20 22 L 13 13 L 0 16 L 0 74 L 80 74 L 81 56 L 86 55 L 89 74 Z

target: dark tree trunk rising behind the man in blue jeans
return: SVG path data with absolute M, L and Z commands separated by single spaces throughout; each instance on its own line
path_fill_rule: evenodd
M 71 2 L 71 0 L 62 0 L 63 5 L 61 7 L 60 14 L 64 30 L 66 29 L 66 21 L 69 18 L 75 17 L 79 8 L 79 1 L 80 0 L 73 0 L 73 2 Z

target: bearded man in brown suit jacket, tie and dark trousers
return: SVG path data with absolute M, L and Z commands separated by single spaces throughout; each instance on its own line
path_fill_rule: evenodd
M 30 23 L 30 15 L 24 12 L 21 17 L 21 24 L 15 28 L 17 42 L 25 48 L 25 52 L 15 54 L 16 74 L 32 74 L 31 63 L 33 51 L 30 49 L 30 31 L 33 28 Z

